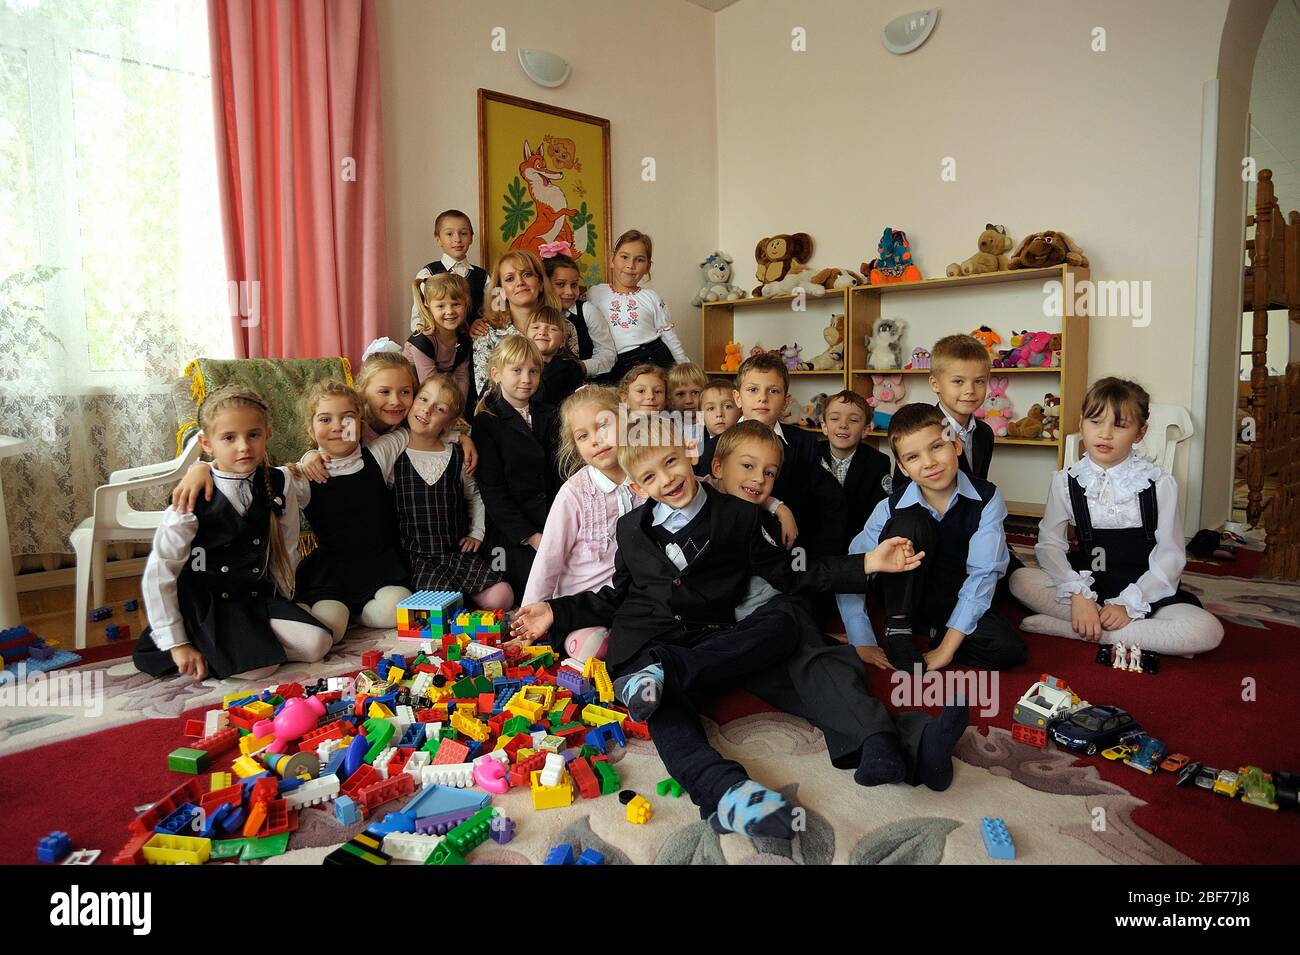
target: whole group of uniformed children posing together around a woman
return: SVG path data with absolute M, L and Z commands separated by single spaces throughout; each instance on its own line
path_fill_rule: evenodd
M 315 451 L 274 468 L 256 394 L 204 400 L 212 464 L 177 487 L 155 539 L 140 669 L 260 678 L 321 659 L 352 620 L 391 626 L 412 589 L 517 605 L 514 642 L 606 660 L 620 703 L 719 832 L 789 837 L 786 799 L 708 745 L 702 693 L 740 686 L 809 719 L 861 785 L 941 790 L 966 707 L 890 716 L 863 665 L 1023 663 L 1027 644 L 993 608 L 1004 581 L 1035 612 L 1024 630 L 1182 655 L 1222 638 L 1178 586 L 1178 489 L 1134 452 L 1149 404 L 1136 383 L 1089 388 L 1084 455 L 1053 477 L 1027 568 L 988 481 L 993 435 L 975 411 L 989 356 L 976 339 L 935 343 L 939 401 L 893 416 L 892 465 L 863 443 L 872 414 L 857 392 L 827 400 L 819 442 L 781 424 L 777 356 L 748 359 L 734 379 L 686 361 L 641 286 L 644 233 L 620 236 L 610 285 L 584 300 L 569 257 L 511 251 L 488 274 L 464 260 L 463 213 L 436 229 L 445 255 L 413 282 L 410 340 L 372 346 L 355 390 L 330 381 L 307 395 Z M 317 547 L 299 561 L 303 515 Z M 848 644 L 819 622 L 836 604 Z

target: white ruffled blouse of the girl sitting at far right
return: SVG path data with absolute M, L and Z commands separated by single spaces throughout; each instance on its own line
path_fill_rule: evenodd
M 1183 515 L 1178 507 L 1178 482 L 1164 468 L 1141 457 L 1136 451 L 1123 461 L 1102 468 L 1088 455 L 1065 470 L 1052 476 L 1043 520 L 1039 522 L 1039 543 L 1034 548 L 1039 567 L 1052 577 L 1057 599 L 1067 603 L 1074 594 L 1097 599 L 1092 590 L 1092 572 L 1075 570 L 1070 565 L 1066 544 L 1066 525 L 1076 524 L 1070 503 L 1069 479 L 1074 477 L 1088 500 L 1088 516 L 1096 530 L 1121 530 L 1141 526 L 1141 505 L 1138 496 L 1148 485 L 1156 485 L 1156 547 L 1150 552 L 1149 569 L 1136 582 L 1130 583 L 1108 604 L 1122 604 L 1134 620 L 1150 612 L 1150 604 L 1173 596 L 1178 579 L 1187 564 L 1187 544 L 1183 541 Z

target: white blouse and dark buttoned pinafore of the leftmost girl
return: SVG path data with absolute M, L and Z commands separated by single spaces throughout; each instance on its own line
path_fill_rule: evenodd
M 133 654 L 136 669 L 153 677 L 176 672 L 176 646 L 194 646 L 208 672 L 224 680 L 285 663 L 273 620 L 322 628 L 281 595 L 272 577 L 272 512 L 280 516 L 290 561 L 298 555 L 298 500 L 285 472 L 265 465 L 248 476 L 213 469 L 212 479 L 211 502 L 200 496 L 188 515 L 168 508 L 153 535 L 142 579 L 151 626 Z

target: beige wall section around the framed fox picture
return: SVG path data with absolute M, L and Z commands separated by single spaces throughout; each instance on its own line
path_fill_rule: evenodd
M 610 120 L 614 234 L 637 227 L 654 236 L 653 285 L 698 356 L 690 296 L 698 262 L 718 243 L 714 14 L 685 0 L 377 6 L 393 338 L 410 334 L 411 277 L 437 257 L 434 216 L 456 207 L 477 220 L 484 87 Z M 491 51 L 498 26 L 508 52 Z M 555 90 L 533 84 L 519 47 L 559 53 L 572 77 Z M 641 179 L 645 156 L 656 160 L 655 182 Z M 469 257 L 480 261 L 477 246 Z

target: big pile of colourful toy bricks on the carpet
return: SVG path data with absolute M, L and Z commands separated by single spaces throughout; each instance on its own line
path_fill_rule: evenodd
M 410 659 L 372 651 L 355 678 L 228 696 L 188 721 L 191 739 L 168 765 L 191 778 L 130 822 L 113 863 L 278 855 L 299 812 L 325 807 L 341 825 L 369 821 L 326 863 L 463 864 L 488 838 L 514 835 L 515 821 L 490 804 L 514 787 L 529 789 L 534 809 L 619 794 L 629 821 L 647 821 L 649 802 L 619 793 L 606 751 L 649 732 L 614 703 L 604 664 L 503 648 L 500 624 L 476 617 L 474 639 L 447 633 Z M 681 790 L 664 780 L 659 791 Z

